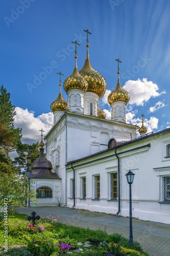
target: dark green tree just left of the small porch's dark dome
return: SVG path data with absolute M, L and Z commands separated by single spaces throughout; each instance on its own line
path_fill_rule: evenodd
M 14 158 L 14 166 L 19 170 L 21 168 L 26 169 L 28 172 L 31 170 L 31 165 L 35 159 L 39 156 L 39 144 L 33 143 L 29 144 L 20 144 L 16 150 L 18 157 Z

